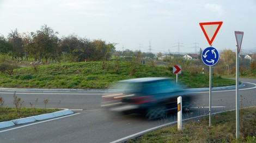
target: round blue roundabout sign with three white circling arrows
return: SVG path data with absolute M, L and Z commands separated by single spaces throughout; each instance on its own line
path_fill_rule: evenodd
M 202 53 L 202 60 L 207 66 L 214 66 L 218 62 L 218 51 L 214 47 L 205 48 Z

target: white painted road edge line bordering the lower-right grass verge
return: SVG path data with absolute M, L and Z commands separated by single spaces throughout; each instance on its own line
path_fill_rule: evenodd
M 252 106 L 252 107 L 256 107 L 256 106 Z M 241 108 L 240 108 L 241 109 Z M 212 113 L 212 115 L 214 114 L 219 114 L 219 113 L 224 113 L 224 112 L 229 112 L 229 111 L 235 111 L 235 109 L 231 109 L 231 110 L 228 110 L 228 111 L 222 111 L 222 112 L 216 112 L 216 113 Z M 188 119 L 184 119 L 182 121 L 188 121 L 188 120 L 191 120 L 191 119 L 196 119 L 196 118 L 202 118 L 204 116 L 209 116 L 209 114 L 205 114 L 205 115 L 200 115 L 200 116 L 195 116 L 193 118 L 188 118 Z M 121 141 L 126 141 L 128 139 L 132 139 L 132 138 L 136 138 L 136 137 L 139 137 L 145 133 L 148 133 L 148 132 L 152 132 L 152 131 L 155 131 L 156 129 L 160 129 L 160 128 L 163 128 L 163 127 L 167 127 L 167 126 L 170 126 L 170 125 L 173 125 L 173 124 L 176 124 L 177 121 L 174 121 L 174 122 L 170 122 L 168 124 L 163 124 L 163 125 L 160 125 L 160 126 L 156 126 L 156 127 L 153 127 L 153 128 L 149 128 L 149 129 L 146 129 L 144 131 L 141 131 L 141 132 L 138 132 L 138 133 L 135 133 L 135 134 L 132 134 L 132 135 L 129 135 L 127 137 L 124 137 L 124 138 L 121 138 L 121 139 L 118 139 L 118 140 L 115 140 L 115 141 L 112 141 L 110 143 L 117 143 L 117 142 L 121 142 Z

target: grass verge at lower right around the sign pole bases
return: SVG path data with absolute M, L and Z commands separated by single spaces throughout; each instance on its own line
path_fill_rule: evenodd
M 240 109 L 240 138 L 235 137 L 235 111 L 199 118 L 182 124 L 165 127 L 127 142 L 256 142 L 256 108 Z

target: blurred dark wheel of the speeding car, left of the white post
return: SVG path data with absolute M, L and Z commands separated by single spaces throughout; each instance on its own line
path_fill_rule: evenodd
M 161 118 L 166 115 L 167 115 L 166 106 L 156 106 L 156 107 L 148 108 L 145 117 L 148 120 L 153 120 L 153 119 Z

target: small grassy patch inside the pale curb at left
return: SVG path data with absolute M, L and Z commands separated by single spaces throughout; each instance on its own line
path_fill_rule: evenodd
M 17 112 L 16 108 L 0 107 L 0 122 L 52 113 L 56 111 L 60 111 L 60 109 L 20 108 L 19 112 Z

